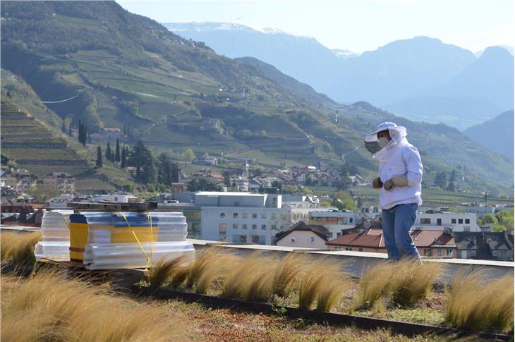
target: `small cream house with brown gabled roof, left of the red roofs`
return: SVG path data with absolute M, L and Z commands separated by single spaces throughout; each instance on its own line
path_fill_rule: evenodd
M 329 231 L 325 226 L 308 225 L 299 221 L 287 231 L 275 235 L 275 244 L 283 247 L 327 249 Z

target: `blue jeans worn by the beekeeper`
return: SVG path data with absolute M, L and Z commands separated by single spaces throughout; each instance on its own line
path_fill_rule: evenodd
M 409 235 L 417 210 L 416 203 L 397 204 L 393 208 L 382 210 L 382 232 L 388 259 L 400 260 L 401 257 L 406 257 L 420 260 L 418 250 Z

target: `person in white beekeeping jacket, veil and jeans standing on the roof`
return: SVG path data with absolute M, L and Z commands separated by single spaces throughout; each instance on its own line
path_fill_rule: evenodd
M 365 147 L 379 161 L 379 177 L 372 181 L 372 187 L 380 189 L 379 207 L 388 258 L 420 260 L 409 231 L 422 204 L 422 161 L 406 135 L 405 127 L 384 122 L 365 137 Z

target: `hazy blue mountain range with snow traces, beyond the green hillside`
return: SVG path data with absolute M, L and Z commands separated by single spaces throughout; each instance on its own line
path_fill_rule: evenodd
M 316 39 L 227 23 L 166 23 L 225 56 L 252 56 L 341 103 L 366 101 L 416 121 L 461 130 L 513 109 L 514 59 L 509 47 L 478 58 L 439 39 L 414 37 L 353 54 Z M 335 58 L 336 57 L 336 58 Z

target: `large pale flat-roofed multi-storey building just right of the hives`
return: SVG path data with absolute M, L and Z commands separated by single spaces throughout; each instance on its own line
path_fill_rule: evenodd
M 311 208 L 292 207 L 281 195 L 200 192 L 201 238 L 230 243 L 272 245 L 276 233 L 309 220 Z

